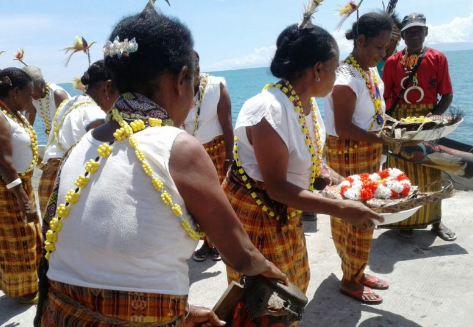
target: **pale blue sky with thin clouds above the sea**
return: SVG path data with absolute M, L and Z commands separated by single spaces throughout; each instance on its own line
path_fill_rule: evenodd
M 387 0 L 385 0 L 387 2 Z M 74 37 L 96 41 L 93 60 L 114 24 L 123 16 L 141 11 L 146 0 L 0 0 L 0 67 L 17 66 L 13 53 L 22 47 L 24 60 L 43 70 L 47 81 L 64 83 L 82 75 L 87 57 L 76 53 L 67 68 L 59 49 L 72 45 Z M 230 70 L 268 66 L 276 38 L 285 26 L 301 18 L 306 0 L 164 0 L 156 5 L 177 16 L 193 33 L 203 70 Z M 350 43 L 343 40 L 355 17 L 335 33 L 337 8 L 345 0 L 324 0 L 316 23 L 334 32 L 343 55 Z M 448 6 L 447 4 L 448 3 Z M 381 0 L 364 0 L 361 14 L 381 8 Z M 428 44 L 440 50 L 473 48 L 473 0 L 399 0 L 403 16 L 423 12 L 430 27 Z M 353 15 L 355 16 L 355 15 Z

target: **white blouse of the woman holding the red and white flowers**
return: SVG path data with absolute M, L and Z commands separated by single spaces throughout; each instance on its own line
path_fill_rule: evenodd
M 263 118 L 278 133 L 289 152 L 287 181 L 298 187 L 308 189 L 312 156 L 305 143 L 305 135 L 301 132 L 299 117 L 295 112 L 294 105 L 277 88 L 267 89 L 248 99 L 238 114 L 235 136 L 238 138 L 238 153 L 246 174 L 254 180 L 264 182 L 256 161 L 253 145 L 250 144 L 246 136 L 246 127 L 258 124 Z M 312 114 L 306 116 L 306 121 L 312 140 L 315 140 Z M 322 143 L 324 144 L 326 138 L 325 126 L 318 107 L 317 121 L 320 126 Z M 275 162 L 275 164 L 277 163 Z

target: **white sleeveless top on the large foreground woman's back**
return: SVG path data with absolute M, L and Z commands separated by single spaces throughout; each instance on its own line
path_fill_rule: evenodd
M 175 127 L 148 128 L 134 138 L 192 226 L 169 173 L 171 149 L 181 133 Z M 76 188 L 74 182 L 102 143 L 91 131 L 74 147 L 62 168 L 59 199 Z M 186 260 L 197 243 L 163 204 L 128 141 L 118 142 L 64 220 L 47 277 L 83 287 L 187 295 Z

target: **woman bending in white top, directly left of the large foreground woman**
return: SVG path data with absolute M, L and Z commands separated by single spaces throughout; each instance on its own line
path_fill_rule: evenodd
M 38 187 L 42 214 L 47 207 L 61 158 L 88 131 L 105 122 L 106 113 L 118 98 L 110 78 L 103 60 L 96 61 L 81 78 L 82 84 L 87 86 L 86 92 L 71 97 L 57 108 L 47 139 L 43 174 Z

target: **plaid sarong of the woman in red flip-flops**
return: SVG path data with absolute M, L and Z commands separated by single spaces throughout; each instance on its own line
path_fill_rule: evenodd
M 338 174 L 375 173 L 379 170 L 382 145 L 359 142 L 328 135 L 327 163 Z M 335 217 L 330 217 L 333 243 L 341 258 L 343 277 L 359 281 L 368 265 L 373 229 L 359 229 Z

